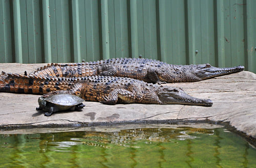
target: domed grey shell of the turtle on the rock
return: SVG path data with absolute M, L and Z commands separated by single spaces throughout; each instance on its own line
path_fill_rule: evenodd
M 56 94 L 46 98 L 46 101 L 57 105 L 72 106 L 77 105 L 84 100 L 78 96 L 71 94 Z

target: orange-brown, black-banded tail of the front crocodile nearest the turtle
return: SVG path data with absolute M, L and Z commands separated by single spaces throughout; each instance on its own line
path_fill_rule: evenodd
M 2 72 L 0 92 L 47 94 L 57 90 L 68 90 L 76 80 L 62 77 L 40 77 Z

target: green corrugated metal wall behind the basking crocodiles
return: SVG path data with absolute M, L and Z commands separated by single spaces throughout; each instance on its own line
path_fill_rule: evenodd
M 256 72 L 255 9 L 254 0 L 0 0 L 0 63 L 142 54 Z

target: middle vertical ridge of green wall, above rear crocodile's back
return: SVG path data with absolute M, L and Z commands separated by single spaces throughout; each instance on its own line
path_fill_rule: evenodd
M 138 25 L 137 25 L 137 1 L 130 1 L 130 14 L 131 14 L 131 44 L 132 44 L 132 57 L 136 58 L 139 55 L 138 48 Z

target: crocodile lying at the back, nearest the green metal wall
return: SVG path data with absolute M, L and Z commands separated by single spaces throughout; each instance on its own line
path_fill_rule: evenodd
M 96 62 L 52 63 L 38 68 L 32 74 L 41 77 L 119 76 L 152 83 L 169 83 L 200 81 L 243 70 L 244 66 L 217 68 L 210 64 L 172 65 L 151 59 L 117 58 Z

